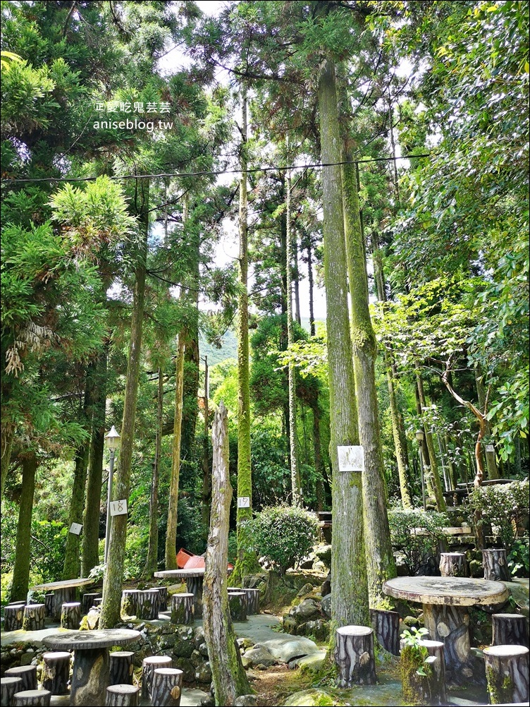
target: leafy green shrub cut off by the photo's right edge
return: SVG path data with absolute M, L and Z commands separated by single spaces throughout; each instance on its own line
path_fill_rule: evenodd
M 528 513 L 528 496 L 528 479 L 512 481 L 511 484 L 480 486 L 469 494 L 469 506 L 480 514 L 481 520 L 478 522 L 481 525 L 492 525 L 502 546 L 509 552 L 514 542 L 517 522 L 521 522 Z

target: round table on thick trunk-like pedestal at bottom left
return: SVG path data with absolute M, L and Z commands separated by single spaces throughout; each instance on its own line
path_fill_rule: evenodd
M 52 633 L 42 643 L 52 650 L 74 650 L 70 704 L 100 707 L 110 683 L 109 648 L 139 638 L 131 629 Z

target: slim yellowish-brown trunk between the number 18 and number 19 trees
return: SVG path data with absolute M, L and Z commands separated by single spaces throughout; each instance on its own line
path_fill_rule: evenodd
M 182 404 L 184 395 L 184 334 L 179 334 L 176 363 L 175 419 L 173 425 L 173 450 L 171 456 L 170 503 L 167 508 L 165 534 L 165 568 L 177 569 L 177 522 L 179 505 L 180 441 L 182 438 Z

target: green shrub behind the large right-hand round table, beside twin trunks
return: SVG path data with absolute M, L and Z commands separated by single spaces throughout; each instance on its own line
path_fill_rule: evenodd
M 442 527 L 449 525 L 447 515 L 393 509 L 389 510 L 388 520 L 393 547 L 403 553 L 408 575 L 416 575 L 436 556 L 443 538 Z

